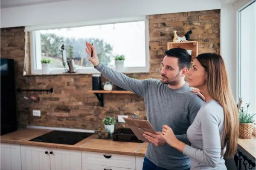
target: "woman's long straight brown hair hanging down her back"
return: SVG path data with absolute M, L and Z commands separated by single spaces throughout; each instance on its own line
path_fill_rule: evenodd
M 224 111 L 224 130 L 221 148 L 226 146 L 226 157 L 232 157 L 237 150 L 239 136 L 239 116 L 236 102 L 231 92 L 223 58 L 215 53 L 199 54 L 196 57 L 207 72 L 209 95 L 218 101 Z

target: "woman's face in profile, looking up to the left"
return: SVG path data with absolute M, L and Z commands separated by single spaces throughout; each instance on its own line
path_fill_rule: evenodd
M 207 73 L 198 59 L 194 59 L 192 68 L 188 71 L 189 86 L 194 88 L 202 88 L 206 84 Z

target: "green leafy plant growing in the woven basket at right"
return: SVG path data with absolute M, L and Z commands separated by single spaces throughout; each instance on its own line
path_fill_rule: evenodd
M 247 110 L 245 110 L 244 107 L 239 107 L 239 104 L 237 105 L 239 111 L 239 123 L 253 123 L 255 121 L 254 116 L 256 113 L 248 113 L 250 103 L 246 103 L 246 105 Z

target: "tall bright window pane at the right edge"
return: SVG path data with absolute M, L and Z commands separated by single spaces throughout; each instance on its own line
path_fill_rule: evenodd
M 255 0 L 239 11 L 239 69 L 238 93 L 242 97 L 242 106 L 248 112 L 256 113 L 256 27 Z

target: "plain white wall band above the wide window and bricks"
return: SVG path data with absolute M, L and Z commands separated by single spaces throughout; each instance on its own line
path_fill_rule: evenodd
M 1 28 L 220 9 L 219 0 L 65 0 L 1 9 Z

